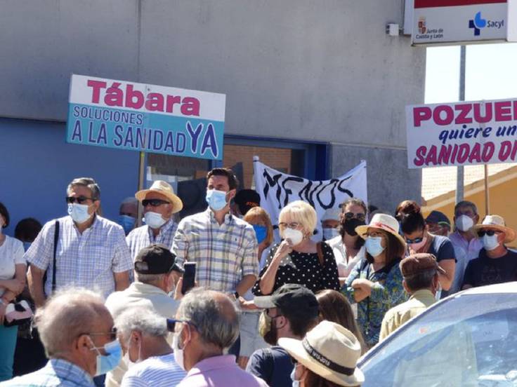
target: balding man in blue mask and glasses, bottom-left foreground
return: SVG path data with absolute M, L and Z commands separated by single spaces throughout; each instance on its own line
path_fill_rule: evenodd
M 38 308 L 36 324 L 46 355 L 45 367 L 2 386 L 93 387 L 122 358 L 110 312 L 98 294 L 86 289 L 57 292 Z

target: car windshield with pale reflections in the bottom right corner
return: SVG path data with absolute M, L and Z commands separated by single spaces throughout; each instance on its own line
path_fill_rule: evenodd
M 400 328 L 359 364 L 362 387 L 517 387 L 516 294 L 465 294 Z

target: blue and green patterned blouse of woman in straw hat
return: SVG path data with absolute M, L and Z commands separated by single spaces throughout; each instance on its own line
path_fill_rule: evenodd
M 374 271 L 372 264 L 366 259 L 361 259 L 352 269 L 341 292 L 348 298 L 351 304 L 355 304 L 353 297 L 353 280 L 363 278 L 374 283 L 372 294 L 358 303 L 358 325 L 362 336 L 369 347 L 379 341 L 381 322 L 384 314 L 393 306 L 402 304 L 409 299 L 402 285 L 403 277 L 398 264 L 400 259 L 395 259 L 390 265 L 384 266 L 379 271 Z

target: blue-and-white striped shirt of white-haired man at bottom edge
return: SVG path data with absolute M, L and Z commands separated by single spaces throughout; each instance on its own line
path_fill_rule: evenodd
M 152 356 L 133 365 L 122 379 L 121 387 L 174 387 L 185 372 L 174 359 L 174 353 Z

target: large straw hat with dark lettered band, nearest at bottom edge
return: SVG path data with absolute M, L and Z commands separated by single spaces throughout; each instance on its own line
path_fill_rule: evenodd
M 315 374 L 339 384 L 357 386 L 365 376 L 356 367 L 361 345 L 345 327 L 323 320 L 303 340 L 281 337 L 278 344 Z

